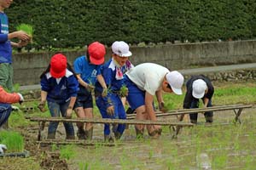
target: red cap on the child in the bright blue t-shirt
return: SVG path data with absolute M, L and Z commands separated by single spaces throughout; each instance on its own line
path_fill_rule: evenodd
M 90 62 L 94 65 L 102 65 L 106 54 L 105 46 L 100 42 L 92 42 L 88 47 Z

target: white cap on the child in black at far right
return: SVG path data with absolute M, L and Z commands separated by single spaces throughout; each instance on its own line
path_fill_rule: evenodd
M 192 84 L 192 95 L 196 99 L 201 99 L 204 97 L 207 89 L 207 82 L 202 79 L 197 79 Z

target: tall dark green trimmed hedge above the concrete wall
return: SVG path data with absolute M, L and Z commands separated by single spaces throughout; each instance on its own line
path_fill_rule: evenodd
M 34 26 L 38 49 L 77 48 L 92 41 L 218 41 L 256 36 L 253 0 L 15 0 L 10 31 Z

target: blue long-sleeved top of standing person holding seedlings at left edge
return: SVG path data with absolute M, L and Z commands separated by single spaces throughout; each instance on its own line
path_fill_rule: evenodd
M 0 13 L 0 63 L 12 63 L 12 47 L 8 39 L 9 21 L 4 13 Z

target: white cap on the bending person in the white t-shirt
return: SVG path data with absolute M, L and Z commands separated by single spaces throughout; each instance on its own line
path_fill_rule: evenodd
M 166 80 L 170 84 L 172 91 L 175 94 L 183 94 L 182 87 L 184 82 L 184 77 L 178 71 L 171 71 L 166 74 Z

